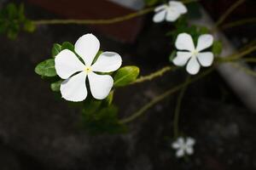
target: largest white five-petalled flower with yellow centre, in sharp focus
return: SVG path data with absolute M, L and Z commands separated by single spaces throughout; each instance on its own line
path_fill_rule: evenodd
M 74 45 L 76 54 L 84 61 L 79 60 L 76 54 L 64 49 L 55 57 L 55 70 L 59 77 L 65 79 L 61 83 L 62 98 L 69 101 L 83 101 L 87 96 L 85 86 L 89 79 L 90 92 L 95 99 L 105 99 L 113 87 L 113 78 L 109 75 L 99 75 L 95 72 L 112 72 L 119 69 L 122 59 L 119 54 L 104 52 L 96 57 L 100 48 L 99 40 L 92 34 L 80 37 Z

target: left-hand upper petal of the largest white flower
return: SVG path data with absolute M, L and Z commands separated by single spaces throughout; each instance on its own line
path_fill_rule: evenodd
M 55 70 L 62 79 L 71 77 L 78 71 L 83 71 L 85 65 L 70 50 L 64 49 L 55 57 Z

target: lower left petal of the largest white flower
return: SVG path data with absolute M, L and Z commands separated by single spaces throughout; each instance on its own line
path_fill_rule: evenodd
M 85 71 L 68 78 L 61 83 L 62 98 L 68 101 L 83 101 L 87 96 L 87 89 L 85 86 L 86 73 Z

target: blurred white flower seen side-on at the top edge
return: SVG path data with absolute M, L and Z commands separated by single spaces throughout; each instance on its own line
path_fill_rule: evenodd
M 170 1 L 169 4 L 162 4 L 154 8 L 154 22 L 161 22 L 163 20 L 175 21 L 181 14 L 188 12 L 188 9 L 183 5 L 183 3 L 177 1 Z

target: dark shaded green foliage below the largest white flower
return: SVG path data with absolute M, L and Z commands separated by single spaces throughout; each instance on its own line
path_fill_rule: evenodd
M 90 102 L 90 107 L 83 110 L 83 127 L 92 134 L 125 133 L 126 127 L 119 123 L 117 114 L 114 105 L 100 107 L 98 101 Z

